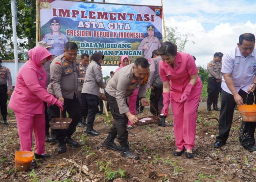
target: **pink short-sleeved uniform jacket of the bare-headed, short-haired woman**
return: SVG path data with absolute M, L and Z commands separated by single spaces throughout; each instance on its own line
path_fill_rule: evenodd
M 170 79 L 170 98 L 178 102 L 184 92 L 187 84 L 190 82 L 190 76 L 197 74 L 195 60 L 191 55 L 185 52 L 177 52 L 175 56 L 174 67 L 172 68 L 167 63 L 160 61 L 159 75 L 162 82 Z M 171 75 L 167 76 L 166 75 Z M 202 90 L 202 83 L 197 76 L 197 81 L 194 88 L 189 94 L 188 100 L 198 95 Z

